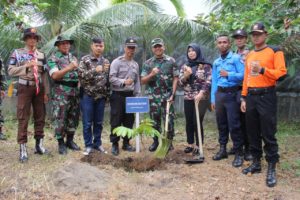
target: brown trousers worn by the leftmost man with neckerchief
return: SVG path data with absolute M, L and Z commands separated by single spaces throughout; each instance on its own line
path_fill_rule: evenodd
M 34 119 L 34 138 L 39 139 L 44 137 L 45 125 L 45 104 L 44 104 L 44 87 L 40 86 L 40 92 L 36 93 L 35 86 L 18 85 L 18 143 L 27 143 L 27 128 L 30 119 L 31 106 L 33 109 Z

